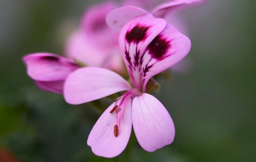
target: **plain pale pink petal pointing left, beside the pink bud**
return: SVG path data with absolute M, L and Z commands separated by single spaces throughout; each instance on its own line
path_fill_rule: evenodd
M 129 83 L 113 71 L 87 67 L 68 76 L 64 85 L 64 97 L 70 104 L 82 104 L 130 88 Z

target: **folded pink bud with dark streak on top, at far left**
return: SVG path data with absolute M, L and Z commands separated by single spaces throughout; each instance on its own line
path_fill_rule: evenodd
M 73 60 L 50 53 L 29 54 L 23 61 L 27 65 L 27 75 L 40 89 L 59 94 L 63 93 L 67 76 L 79 68 Z

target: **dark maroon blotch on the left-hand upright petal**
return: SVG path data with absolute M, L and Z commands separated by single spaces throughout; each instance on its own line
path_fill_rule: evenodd
M 138 44 L 146 38 L 148 29 L 149 26 L 142 26 L 138 24 L 126 33 L 125 38 L 129 44 L 132 42 Z

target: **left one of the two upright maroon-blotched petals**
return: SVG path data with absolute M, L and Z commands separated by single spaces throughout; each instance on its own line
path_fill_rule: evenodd
M 150 42 L 166 26 L 164 19 L 147 14 L 129 21 L 121 30 L 119 44 L 135 88 L 142 89 L 141 58 Z

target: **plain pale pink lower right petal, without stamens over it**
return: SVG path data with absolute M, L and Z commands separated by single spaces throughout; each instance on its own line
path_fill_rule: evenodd
M 146 151 L 153 152 L 174 140 L 172 118 L 162 103 L 148 93 L 134 98 L 132 123 L 137 140 Z

